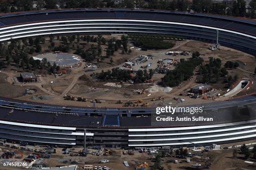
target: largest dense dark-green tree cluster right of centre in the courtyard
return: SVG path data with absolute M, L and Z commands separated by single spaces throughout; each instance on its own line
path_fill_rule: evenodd
M 168 70 L 166 75 L 162 78 L 162 83 L 171 87 L 176 87 L 182 81 L 188 80 L 194 72 L 197 65 L 201 65 L 203 60 L 201 58 L 189 58 L 189 60 L 180 60 L 175 66 L 174 70 Z

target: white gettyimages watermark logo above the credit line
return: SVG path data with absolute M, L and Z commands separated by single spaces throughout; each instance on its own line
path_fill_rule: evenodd
M 165 107 L 156 107 L 156 114 L 159 115 L 161 113 L 171 113 L 172 115 L 174 113 L 190 113 L 190 114 L 194 114 L 194 113 L 201 113 L 202 107 L 171 107 L 171 106 L 165 106 Z

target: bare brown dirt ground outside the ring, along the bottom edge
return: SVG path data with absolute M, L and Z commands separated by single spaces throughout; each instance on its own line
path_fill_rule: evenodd
M 243 143 L 255 143 L 256 140 L 249 140 L 246 142 L 238 142 L 238 143 L 230 143 L 230 144 L 223 144 L 221 147 L 230 147 L 232 145 L 241 145 Z M 29 146 L 34 148 L 34 146 Z M 0 146 L 2 150 L 10 150 L 13 151 L 11 148 L 6 148 Z M 41 149 L 41 148 L 37 148 Z M 236 148 L 237 150 L 239 147 Z M 86 165 L 93 165 L 93 166 L 108 166 L 111 170 L 134 170 L 139 163 L 148 163 L 148 168 L 150 169 L 151 166 L 154 165 L 154 161 L 149 160 L 150 157 L 154 155 L 143 155 L 142 153 L 138 153 L 138 151 L 134 152 L 134 155 L 123 155 L 123 150 L 116 150 L 113 149 L 110 152 L 108 157 L 106 156 L 95 156 L 88 154 L 87 157 L 72 157 L 69 154 L 63 154 L 61 151 L 62 148 L 57 148 L 57 153 L 51 154 L 51 159 L 45 159 L 43 165 L 47 165 L 49 167 L 56 167 L 56 166 L 67 166 L 67 165 L 78 165 L 78 170 L 82 170 L 84 164 Z M 68 148 L 70 150 L 70 148 Z M 74 150 L 69 151 L 70 153 L 77 153 L 81 148 L 74 148 Z M 90 149 L 91 151 L 97 151 Z M 33 152 L 19 150 L 20 153 L 23 154 L 23 158 L 26 158 L 28 155 L 32 154 Z M 17 153 L 17 151 L 16 151 Z M 111 154 L 112 153 L 112 154 Z M 17 153 L 18 154 L 18 153 Z M 18 154 L 19 155 L 19 154 Z M 174 151 L 171 155 L 175 155 Z M 168 163 L 168 160 L 178 160 L 178 163 Z M 10 159 L 10 160 L 19 160 L 19 159 Z M 99 160 L 109 160 L 109 163 L 99 163 Z M 229 148 L 228 150 L 210 150 L 210 152 L 203 153 L 203 156 L 195 156 L 194 158 L 190 158 L 190 163 L 180 163 L 182 160 L 186 159 L 179 159 L 173 157 L 164 157 L 161 160 L 161 166 L 164 167 L 164 170 L 201 170 L 204 169 L 207 163 L 212 163 L 211 170 L 255 170 L 256 160 L 252 158 L 248 158 L 247 161 L 252 161 L 254 164 L 245 163 L 244 155 L 237 154 L 236 158 L 233 158 L 233 148 Z M 123 161 L 128 161 L 130 167 L 125 167 L 123 165 Z M 200 163 L 201 167 L 193 168 L 191 165 L 194 163 Z M 0 169 L 3 168 L 0 166 Z M 6 169 L 15 169 L 11 167 L 5 167 Z M 16 168 L 17 169 L 17 168 Z

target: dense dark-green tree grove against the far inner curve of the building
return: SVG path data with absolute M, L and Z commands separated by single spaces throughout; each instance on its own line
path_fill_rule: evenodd
M 169 41 L 164 41 L 164 36 L 161 35 L 136 35 L 133 34 L 131 40 L 135 45 L 143 48 L 143 50 L 147 49 L 168 49 L 173 47 L 175 44 Z

